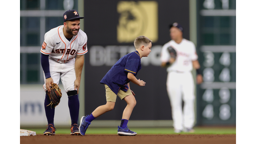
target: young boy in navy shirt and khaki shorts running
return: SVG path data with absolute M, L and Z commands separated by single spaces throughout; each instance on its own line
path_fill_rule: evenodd
M 90 115 L 83 116 L 80 121 L 79 132 L 81 135 L 85 135 L 85 132 L 91 122 L 98 116 L 105 112 L 114 109 L 116 96 L 118 95 L 121 100 L 125 100 L 127 103 L 124 109 L 121 125 L 118 126 L 118 135 L 136 135 L 136 132 L 131 131 L 127 127 L 128 120 L 131 116 L 132 110 L 136 105 L 134 92 L 130 89 L 129 82 L 133 82 L 139 86 L 144 86 L 143 80 L 137 79 L 135 76 L 141 69 L 140 59 L 147 57 L 151 52 L 152 41 L 145 37 L 139 36 L 134 41 L 136 51 L 129 53 L 120 58 L 116 64 L 107 72 L 100 83 L 105 85 L 106 100 L 105 105 L 97 107 Z

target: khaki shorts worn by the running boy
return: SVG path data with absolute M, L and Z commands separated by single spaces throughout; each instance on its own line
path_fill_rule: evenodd
M 110 102 L 116 102 L 116 94 L 106 84 L 105 84 L 105 89 L 106 89 L 106 100 Z M 128 95 L 132 95 L 132 92 L 130 89 L 128 89 L 127 92 L 119 90 L 117 95 L 122 100 Z

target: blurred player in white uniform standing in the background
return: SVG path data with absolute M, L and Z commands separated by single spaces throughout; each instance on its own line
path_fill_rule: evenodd
M 200 64 L 193 42 L 183 38 L 183 28 L 178 23 L 170 25 L 171 41 L 166 43 L 161 51 L 162 67 L 167 67 L 167 93 L 172 108 L 174 131 L 176 133 L 194 132 L 194 80 L 192 68 L 197 71 L 197 83 L 202 83 Z M 176 58 L 171 57 L 168 47 L 175 49 Z M 184 108 L 182 111 L 182 100 Z

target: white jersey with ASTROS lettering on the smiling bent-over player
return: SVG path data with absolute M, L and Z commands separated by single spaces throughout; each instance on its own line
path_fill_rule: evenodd
M 68 41 L 63 34 L 64 25 L 51 29 L 44 35 L 41 53 L 49 55 L 49 59 L 58 63 L 67 63 L 76 54 L 83 55 L 88 52 L 87 35 L 80 29 L 76 36 Z

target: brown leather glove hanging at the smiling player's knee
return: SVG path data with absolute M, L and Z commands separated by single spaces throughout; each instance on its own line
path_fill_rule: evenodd
M 56 107 L 60 103 L 60 98 L 62 96 L 62 93 L 60 91 L 60 88 L 57 84 L 53 83 L 51 86 L 51 91 L 48 92 L 48 96 L 50 98 L 51 103 L 49 105 L 52 105 Z M 49 106 L 47 105 L 47 106 Z

